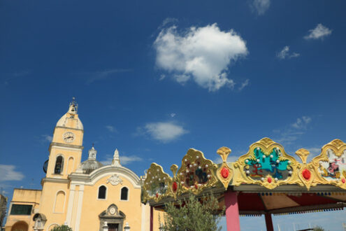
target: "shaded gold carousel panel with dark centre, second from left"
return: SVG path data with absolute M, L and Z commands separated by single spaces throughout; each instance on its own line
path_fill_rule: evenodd
M 190 148 L 182 158 L 182 166 L 178 171 L 182 193 L 192 192 L 199 194 L 204 188 L 211 188 L 217 183 L 215 176 L 216 165 L 204 158 L 201 151 Z

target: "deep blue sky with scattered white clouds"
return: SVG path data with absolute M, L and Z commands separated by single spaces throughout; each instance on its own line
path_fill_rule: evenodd
M 1 187 L 41 188 L 72 97 L 82 159 L 92 143 L 103 162 L 118 148 L 138 175 L 151 162 L 169 172 L 188 148 L 217 160 L 217 148 L 234 159 L 263 137 L 291 155 L 346 141 L 345 6 L 2 0 Z

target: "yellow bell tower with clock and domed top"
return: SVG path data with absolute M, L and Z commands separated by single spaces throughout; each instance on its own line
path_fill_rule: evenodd
M 69 111 L 55 126 L 49 147 L 46 178 L 67 179 L 75 172 L 82 158 L 83 125 L 78 117 L 78 104 L 73 97 Z

